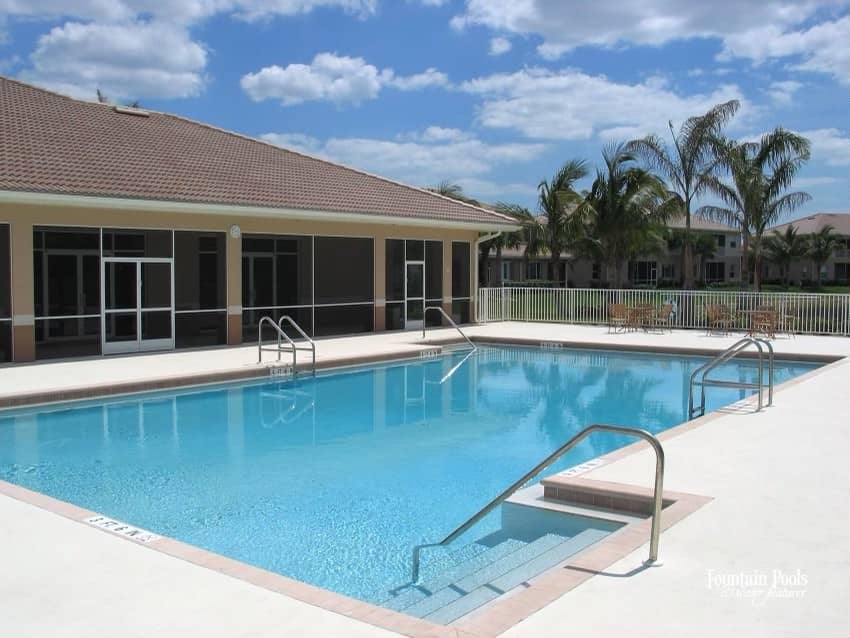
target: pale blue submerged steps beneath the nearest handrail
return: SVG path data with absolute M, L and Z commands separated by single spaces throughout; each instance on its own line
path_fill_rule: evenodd
M 586 529 L 571 538 L 545 534 L 531 542 L 507 539 L 384 605 L 411 616 L 449 624 L 608 533 Z

